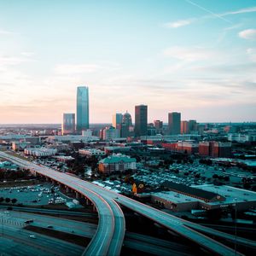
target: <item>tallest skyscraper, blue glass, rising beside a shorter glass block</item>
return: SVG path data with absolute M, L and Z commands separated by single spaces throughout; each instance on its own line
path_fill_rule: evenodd
M 77 131 L 89 129 L 89 88 L 79 86 L 77 89 Z

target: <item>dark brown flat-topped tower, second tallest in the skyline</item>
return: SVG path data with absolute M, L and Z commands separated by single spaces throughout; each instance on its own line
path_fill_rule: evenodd
M 148 133 L 148 106 L 135 106 L 135 136 L 144 136 Z

